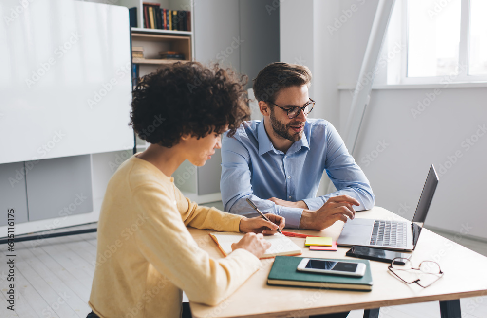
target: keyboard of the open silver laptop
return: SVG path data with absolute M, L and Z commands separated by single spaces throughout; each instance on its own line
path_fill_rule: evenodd
M 406 247 L 406 222 L 375 220 L 371 245 Z

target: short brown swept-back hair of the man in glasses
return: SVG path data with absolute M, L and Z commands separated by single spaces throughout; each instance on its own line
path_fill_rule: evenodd
M 282 88 L 292 86 L 308 87 L 311 71 L 303 65 L 276 62 L 263 68 L 254 79 L 254 95 L 257 100 L 274 102 Z

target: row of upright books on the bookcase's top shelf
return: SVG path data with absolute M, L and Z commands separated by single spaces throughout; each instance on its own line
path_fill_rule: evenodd
M 143 2 L 144 27 L 147 29 L 191 31 L 191 12 L 161 8 L 161 4 Z

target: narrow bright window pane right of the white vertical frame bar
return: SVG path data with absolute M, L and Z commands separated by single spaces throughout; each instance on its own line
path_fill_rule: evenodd
M 470 2 L 468 75 L 487 75 L 487 1 Z

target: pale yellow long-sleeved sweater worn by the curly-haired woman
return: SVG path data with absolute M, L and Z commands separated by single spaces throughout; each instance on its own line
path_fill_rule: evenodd
M 260 266 L 244 249 L 215 260 L 198 247 L 186 226 L 238 232 L 242 216 L 198 206 L 173 181 L 135 156 L 110 179 L 89 301 L 98 316 L 180 317 L 182 290 L 216 305 Z

